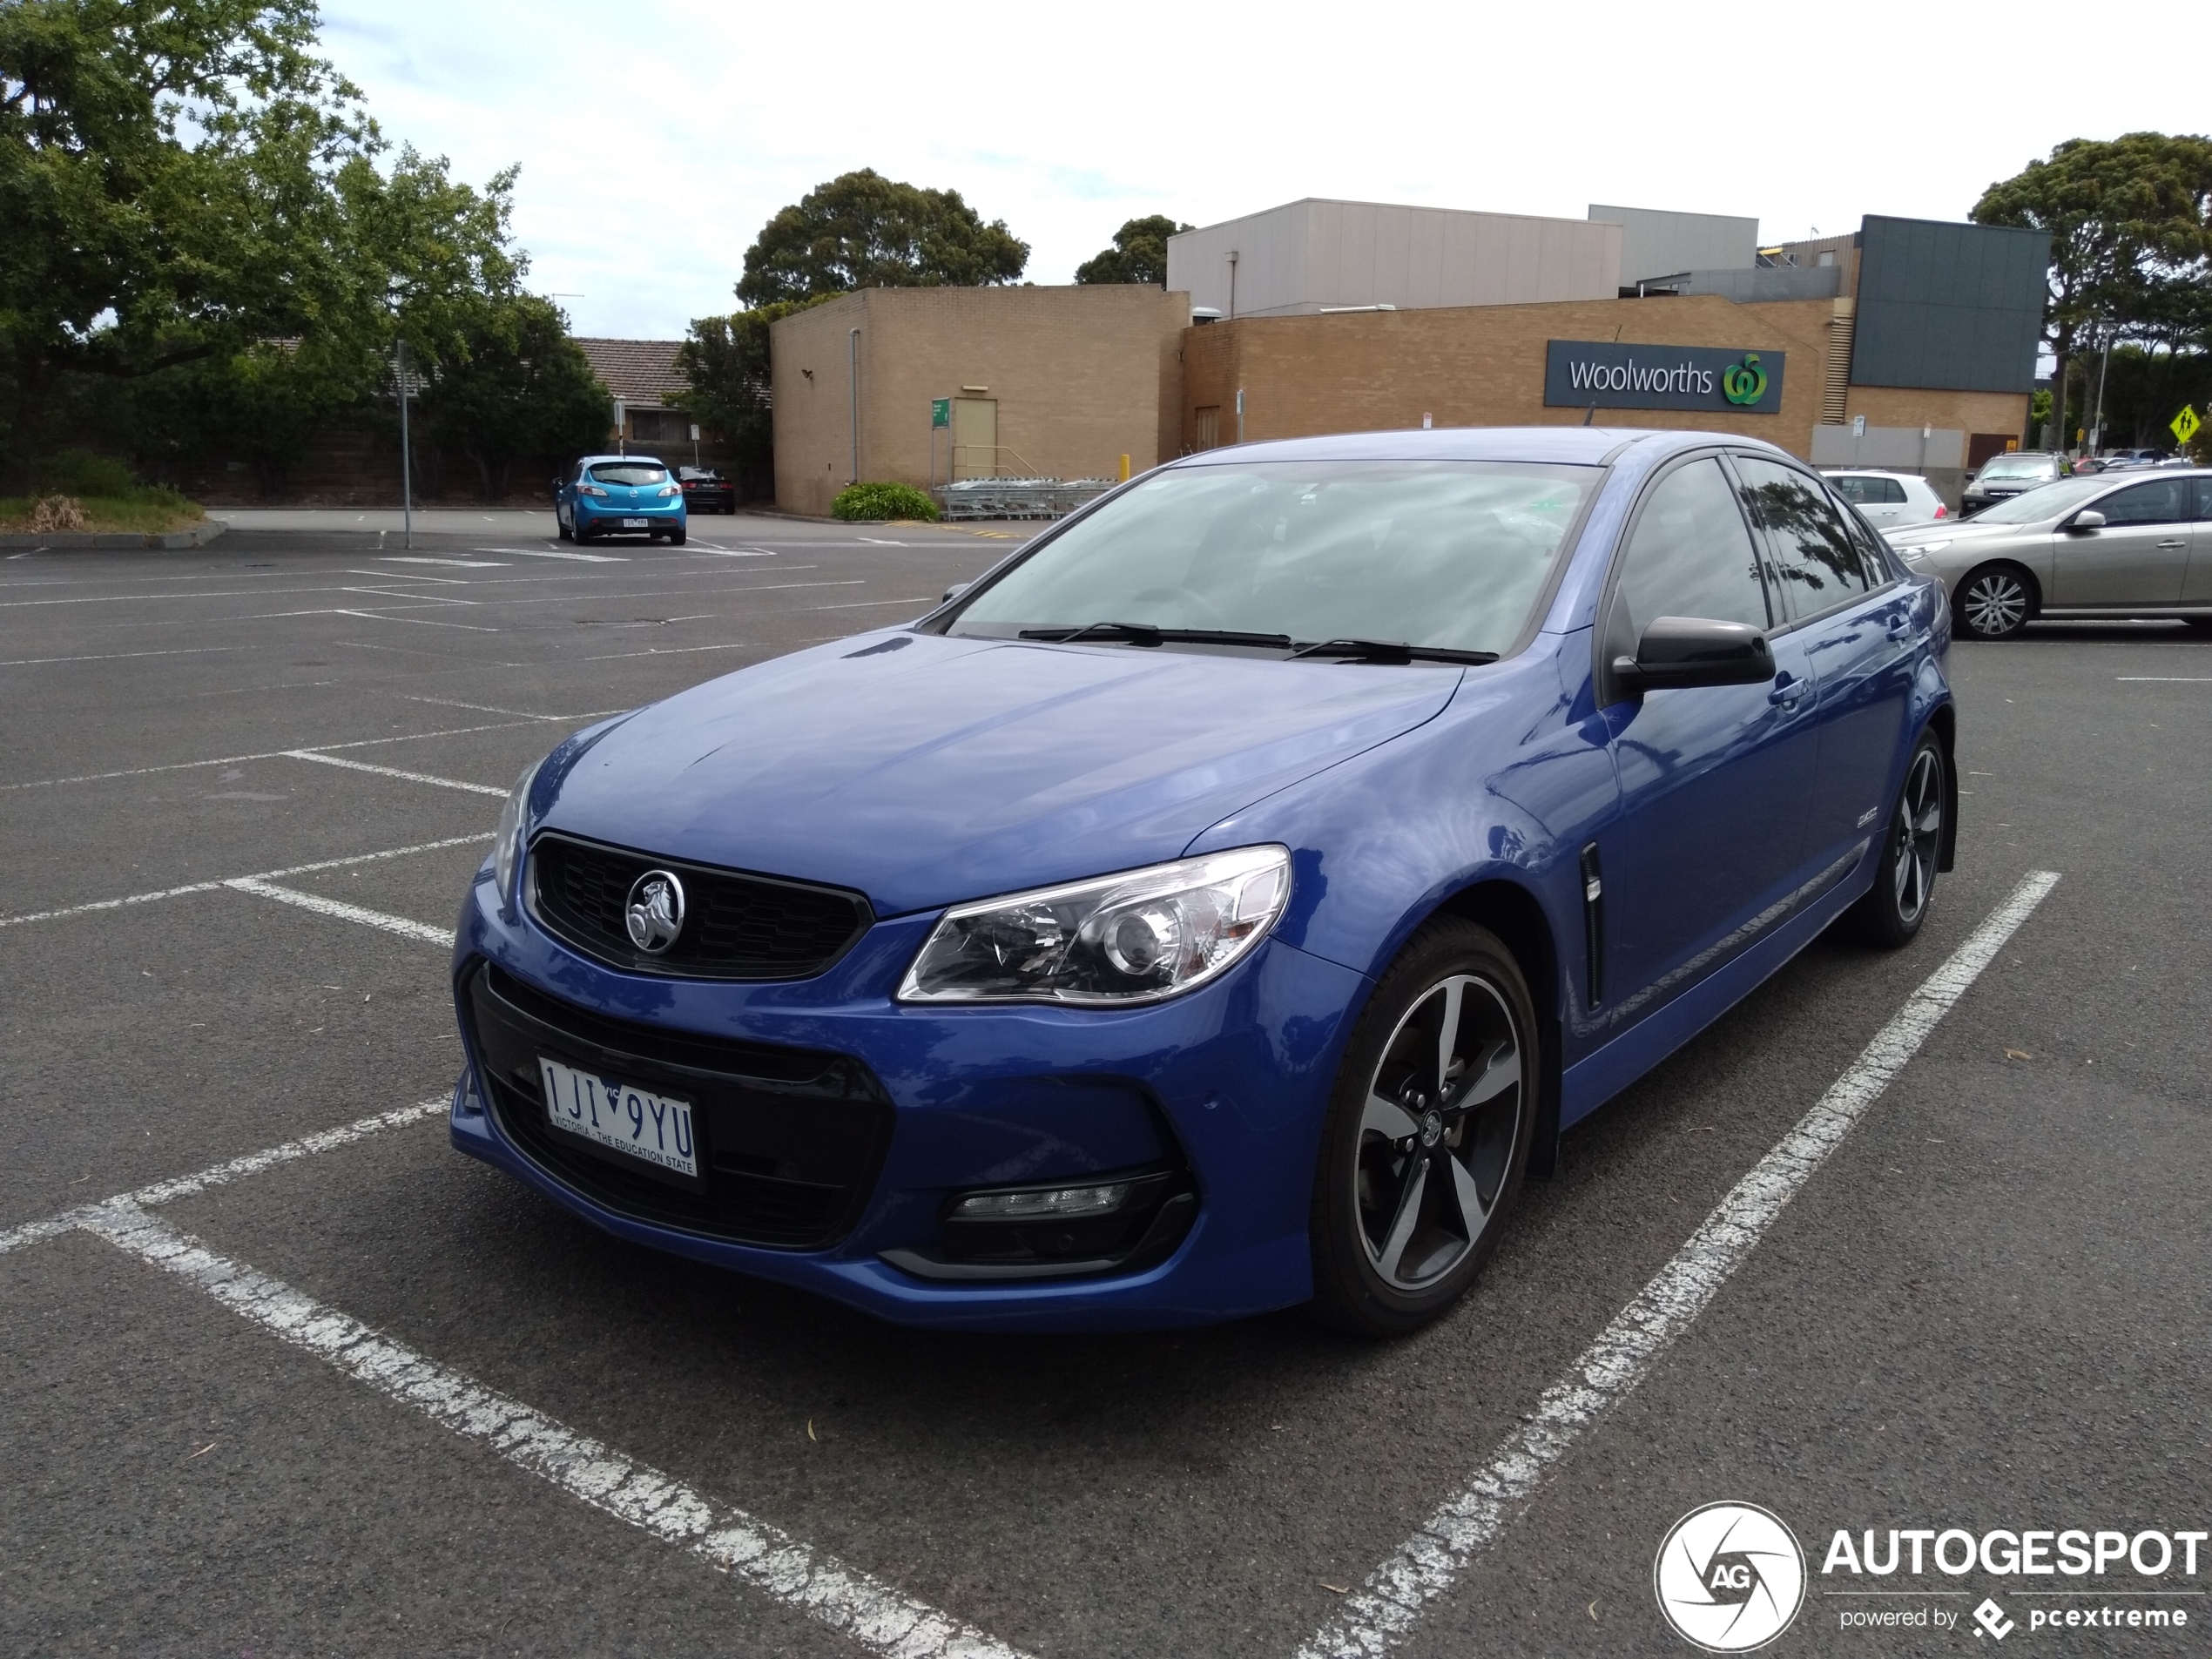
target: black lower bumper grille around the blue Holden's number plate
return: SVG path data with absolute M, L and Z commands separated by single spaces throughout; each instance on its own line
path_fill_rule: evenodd
M 825 1250 L 860 1219 L 891 1144 L 891 1104 L 858 1060 L 613 1020 L 489 962 L 469 969 L 460 1004 L 500 1130 L 586 1199 L 781 1250 Z M 690 1102 L 703 1183 L 551 1128 L 540 1055 Z

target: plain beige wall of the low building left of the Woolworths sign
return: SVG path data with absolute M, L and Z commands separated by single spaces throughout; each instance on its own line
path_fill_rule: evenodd
M 951 434 L 931 460 L 929 400 L 958 396 L 998 400 L 1009 471 L 1113 478 L 1121 456 L 1144 471 L 1181 442 L 1188 321 L 1188 294 L 1135 283 L 872 288 L 787 316 L 770 332 L 776 504 L 827 513 L 854 482 L 854 356 L 858 478 L 945 482 Z

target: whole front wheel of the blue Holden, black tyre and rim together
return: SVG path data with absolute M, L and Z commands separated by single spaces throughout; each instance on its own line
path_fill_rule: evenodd
M 1495 933 L 1458 918 L 1413 933 L 1352 1031 L 1321 1133 L 1314 1318 L 1400 1336 L 1473 1283 L 1528 1168 L 1537 1044 Z

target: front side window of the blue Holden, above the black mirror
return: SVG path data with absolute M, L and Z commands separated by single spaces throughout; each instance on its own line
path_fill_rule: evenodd
M 1677 467 L 1644 498 L 1613 588 L 1608 653 L 1632 653 L 1655 617 L 1767 626 L 1752 538 L 1717 460 Z

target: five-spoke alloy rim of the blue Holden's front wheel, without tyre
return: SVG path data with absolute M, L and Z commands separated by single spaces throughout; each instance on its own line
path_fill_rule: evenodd
M 1522 1135 L 1524 1053 L 1511 1006 L 1471 973 L 1416 998 L 1383 1046 L 1354 1179 L 1367 1261 L 1394 1290 L 1449 1274 L 1498 1212 Z

